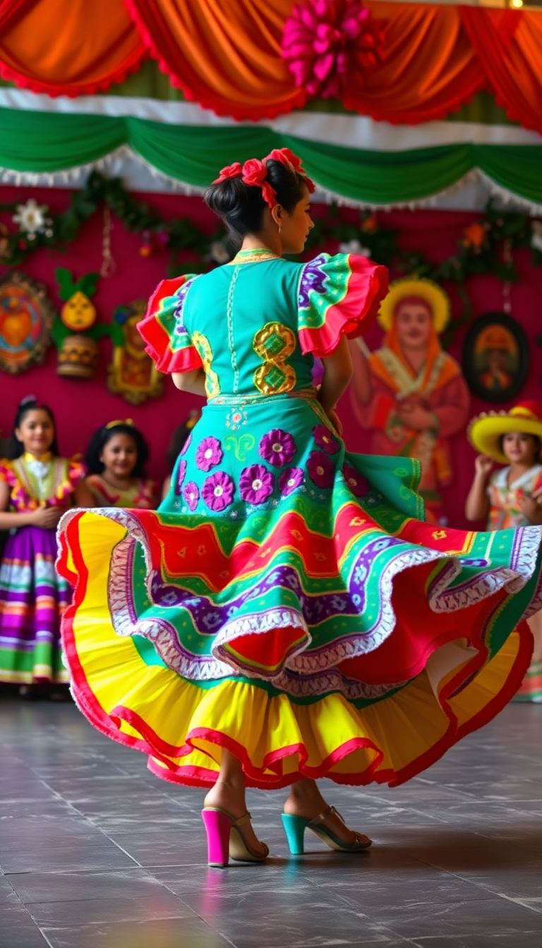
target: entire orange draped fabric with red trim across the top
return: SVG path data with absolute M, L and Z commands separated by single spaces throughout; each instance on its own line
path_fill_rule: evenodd
M 284 63 L 294 0 L 4 0 L 0 75 L 51 96 L 105 89 L 159 61 L 188 100 L 219 115 L 272 118 L 302 107 Z M 383 63 L 352 73 L 343 102 L 371 118 L 445 118 L 481 88 L 542 134 L 542 13 L 367 0 L 383 21 Z M 62 25 L 62 29 L 59 28 Z

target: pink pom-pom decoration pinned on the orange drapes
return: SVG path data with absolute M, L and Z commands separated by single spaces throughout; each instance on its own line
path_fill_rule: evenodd
M 340 98 L 349 73 L 366 75 L 382 62 L 382 24 L 362 0 L 304 0 L 286 21 L 282 54 L 296 85 Z

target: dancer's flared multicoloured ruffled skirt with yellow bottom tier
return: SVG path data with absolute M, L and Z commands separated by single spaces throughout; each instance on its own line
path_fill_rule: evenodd
M 539 608 L 532 527 L 426 524 L 416 462 L 348 454 L 313 400 L 215 400 L 159 512 L 71 511 L 74 697 L 161 777 L 397 784 L 508 702 Z

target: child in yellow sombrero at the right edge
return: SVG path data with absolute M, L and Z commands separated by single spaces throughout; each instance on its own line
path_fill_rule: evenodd
M 469 426 L 469 440 L 481 451 L 467 498 L 467 520 L 487 518 L 488 530 L 517 530 L 542 523 L 542 406 L 528 401 L 498 414 L 483 412 Z M 500 465 L 494 470 L 495 461 Z M 542 611 L 529 619 L 533 659 L 514 697 L 542 702 Z

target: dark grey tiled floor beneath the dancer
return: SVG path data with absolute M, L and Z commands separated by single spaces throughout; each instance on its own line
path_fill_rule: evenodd
M 202 793 L 71 704 L 0 695 L 1 948 L 541 948 L 542 706 L 510 705 L 395 790 L 328 784 L 370 853 L 289 857 L 283 793 L 250 794 L 265 866 L 209 869 Z

